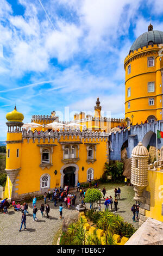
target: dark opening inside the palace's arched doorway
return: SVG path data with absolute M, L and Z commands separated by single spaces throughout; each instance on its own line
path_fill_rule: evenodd
M 63 170 L 64 175 L 64 186 L 68 185 L 69 187 L 75 186 L 75 174 L 76 167 L 68 166 Z

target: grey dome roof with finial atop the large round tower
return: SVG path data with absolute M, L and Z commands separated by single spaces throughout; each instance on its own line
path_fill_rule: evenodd
M 150 23 L 148 26 L 148 32 L 143 33 L 134 41 L 133 45 L 130 47 L 129 53 L 143 46 L 154 44 L 163 44 L 163 32 L 157 30 L 153 31 L 153 26 Z

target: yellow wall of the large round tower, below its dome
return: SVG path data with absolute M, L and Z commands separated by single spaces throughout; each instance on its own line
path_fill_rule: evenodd
M 155 51 L 150 53 L 149 51 Z M 129 118 L 133 125 L 144 123 L 149 115 L 154 115 L 157 120 L 162 119 L 162 81 L 160 68 L 163 66 L 162 58 L 158 57 L 160 48 L 154 45 L 143 47 L 130 53 L 124 60 L 124 66 L 131 60 L 125 68 L 126 71 L 126 102 L 125 102 L 125 118 Z M 143 53 L 143 56 L 139 56 Z M 154 66 L 148 67 L 148 57 L 154 57 Z M 131 65 L 131 73 L 128 75 L 128 66 Z M 148 82 L 155 83 L 155 92 L 148 93 Z M 161 87 L 160 87 L 161 84 Z M 131 96 L 127 96 L 127 90 L 131 88 Z M 154 98 L 154 105 L 149 106 L 149 98 Z M 161 102 L 160 102 L 161 100 Z M 128 108 L 130 102 L 130 108 Z M 133 119 L 131 115 L 134 115 Z

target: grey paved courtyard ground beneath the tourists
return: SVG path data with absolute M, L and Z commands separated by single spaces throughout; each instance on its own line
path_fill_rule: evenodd
M 133 223 L 131 205 L 134 204 L 133 196 L 134 191 L 133 187 L 128 187 L 122 184 L 105 184 L 106 196 L 112 196 L 114 198 L 114 188 L 121 188 L 121 199 L 118 200 L 117 214 L 120 214 L 126 221 L 134 224 L 135 227 L 138 227 L 138 222 Z M 102 190 L 103 186 L 99 186 L 98 189 Z M 79 193 L 77 193 L 78 195 Z M 78 197 L 77 197 L 78 198 Z M 59 204 L 57 207 L 54 207 L 54 203 L 49 202 L 51 208 L 49 212 L 49 219 L 46 217 L 41 218 L 40 214 L 40 205 L 43 203 L 43 200 L 37 201 L 37 218 L 39 222 L 33 222 L 33 207 L 32 203 L 28 204 L 29 214 L 27 215 L 26 228 L 18 232 L 21 224 L 21 212 L 16 212 L 14 209 L 9 209 L 9 214 L 3 214 L 0 212 L 0 245 L 52 245 L 53 237 L 57 233 L 58 229 L 61 227 L 62 220 L 60 220 L 59 215 Z M 77 202 L 78 203 L 78 200 Z M 104 200 L 101 201 L 102 209 L 104 208 Z M 89 209 L 89 204 L 87 205 Z M 65 214 L 71 214 L 73 210 L 63 210 L 63 216 Z

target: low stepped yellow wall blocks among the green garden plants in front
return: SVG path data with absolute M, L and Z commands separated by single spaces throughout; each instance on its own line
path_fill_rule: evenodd
M 97 236 L 102 241 L 102 245 L 105 245 L 105 234 L 103 229 L 97 229 L 96 227 L 91 227 L 90 224 L 87 222 L 87 218 L 85 217 L 84 212 L 80 212 L 79 216 L 82 216 L 82 218 L 85 220 L 84 223 L 84 229 L 86 230 L 87 235 L 93 235 L 93 232 L 96 230 Z M 116 241 L 116 245 L 125 245 L 125 243 L 128 241 L 128 238 L 123 236 L 122 239 L 120 235 L 114 234 L 113 235 L 114 240 Z

